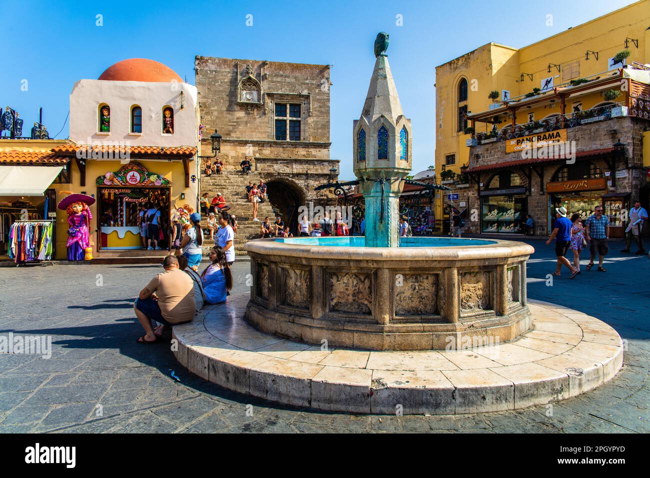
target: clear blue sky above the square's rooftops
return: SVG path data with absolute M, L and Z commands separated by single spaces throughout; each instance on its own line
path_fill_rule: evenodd
M 195 55 L 331 64 L 331 158 L 341 160 L 341 178 L 351 179 L 352 121 L 365 100 L 374 38 L 386 31 L 393 76 L 413 125 L 415 173 L 434 164 L 435 66 L 487 42 L 526 46 L 630 3 L 4 0 L 0 105 L 16 109 L 27 131 L 42 106 L 50 135 L 61 130 L 57 138 L 66 138 L 75 81 L 97 78 L 126 58 L 157 60 L 192 84 Z

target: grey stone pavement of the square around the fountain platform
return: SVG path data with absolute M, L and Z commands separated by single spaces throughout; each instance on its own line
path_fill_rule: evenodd
M 168 343 L 135 343 L 133 299 L 160 266 L 54 265 L 0 268 L 0 336 L 49 335 L 53 347 L 51 360 L 0 354 L 0 432 L 650 432 L 650 260 L 612 241 L 607 272 L 583 261 L 550 286 L 553 248 L 528 242 L 528 296 L 594 315 L 628 346 L 614 380 L 552 408 L 356 416 L 250 399 L 183 369 Z M 235 263 L 233 293 L 248 290 L 248 267 Z

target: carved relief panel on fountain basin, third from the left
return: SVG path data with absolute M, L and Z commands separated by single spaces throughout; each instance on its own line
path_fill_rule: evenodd
M 330 272 L 330 310 L 372 312 L 372 277 L 363 272 Z

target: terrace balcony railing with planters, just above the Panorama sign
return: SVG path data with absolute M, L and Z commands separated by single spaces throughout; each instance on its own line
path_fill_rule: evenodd
M 493 129 L 489 133 L 476 133 L 467 140 L 467 146 L 478 146 L 508 139 L 521 138 L 537 133 L 547 133 L 556 129 L 572 128 L 583 124 L 610 120 L 618 116 L 627 116 L 624 103 L 612 103 L 597 108 L 575 111 L 573 113 L 558 114 L 544 120 L 531 121 L 517 126 L 506 126 L 502 129 Z

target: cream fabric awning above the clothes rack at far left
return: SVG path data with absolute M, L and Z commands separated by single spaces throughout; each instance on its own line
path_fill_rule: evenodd
M 0 196 L 42 196 L 63 166 L 0 166 Z

